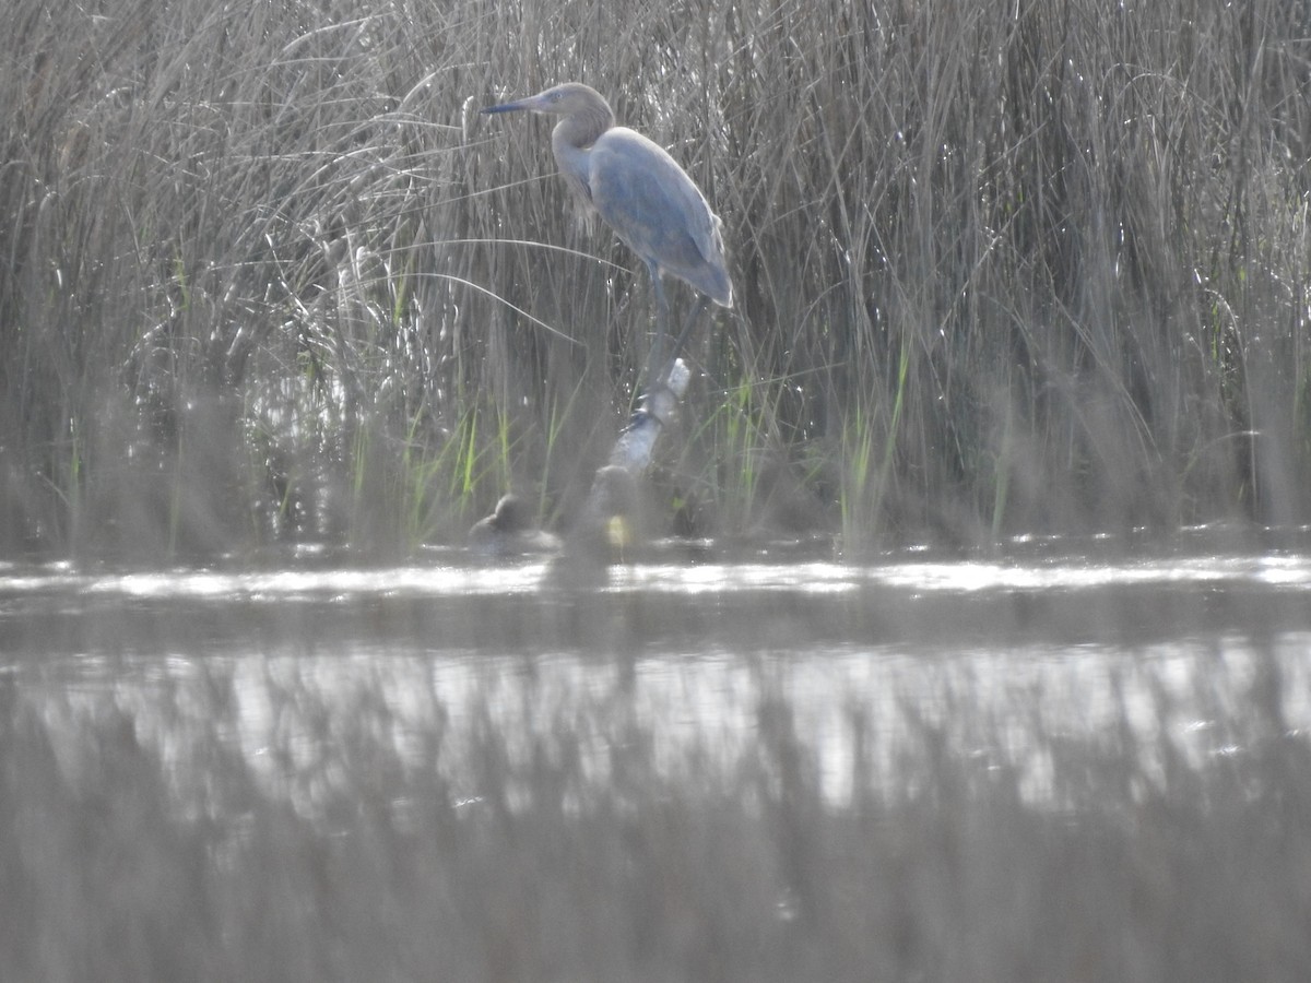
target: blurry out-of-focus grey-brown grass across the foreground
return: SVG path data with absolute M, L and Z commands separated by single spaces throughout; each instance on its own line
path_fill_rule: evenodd
M 463 692 L 402 654 L 127 662 L 81 687 L 20 667 L 0 679 L 0 962 L 134 983 L 1291 983 L 1311 759 L 1283 716 L 1297 684 L 1272 653 L 1253 666 L 1180 688 L 1126 662 L 1100 714 L 944 671 L 891 713 L 852 693 L 827 739 L 760 671 L 739 742 L 671 742 L 623 674 L 561 697 L 549 662 Z M 1070 697 L 1088 716 L 1042 710 Z

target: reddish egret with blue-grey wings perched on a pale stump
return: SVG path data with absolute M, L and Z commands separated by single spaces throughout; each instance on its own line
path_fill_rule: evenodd
M 646 385 L 649 389 L 663 383 L 665 366 L 678 358 L 707 303 L 733 307 L 733 282 L 724 263 L 718 216 L 662 147 L 633 130 L 615 126 L 610 104 L 595 89 L 565 83 L 482 111 L 515 110 L 564 117 L 551 134 L 560 173 L 578 199 L 595 210 L 646 263 L 656 292 L 656 343 L 646 364 Z M 669 301 L 661 283 L 666 273 L 701 294 L 667 363 L 663 349 Z M 654 371 L 661 375 L 654 377 Z

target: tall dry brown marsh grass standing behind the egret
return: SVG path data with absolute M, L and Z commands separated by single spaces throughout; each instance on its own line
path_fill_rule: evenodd
M 695 430 L 667 488 L 712 488 L 705 528 L 754 520 L 760 453 L 873 540 L 1307 520 L 1303 5 L 9 20 L 7 550 L 404 550 L 507 482 L 558 514 L 631 405 L 648 284 L 573 224 L 547 127 L 476 110 L 566 77 L 726 223 L 739 304 L 686 415 L 747 388 L 768 418 Z

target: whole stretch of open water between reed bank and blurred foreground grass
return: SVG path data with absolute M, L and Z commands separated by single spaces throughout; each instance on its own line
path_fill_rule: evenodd
M 520 763 L 582 727 L 603 782 L 632 733 L 650 734 L 667 772 L 690 748 L 749 756 L 781 699 L 842 800 L 897 771 L 911 725 L 1021 769 L 1034 797 L 1050 792 L 1045 742 L 1126 720 L 1145 748 L 1167 727 L 1202 764 L 1235 752 L 1221 718 L 1268 665 L 1283 723 L 1311 726 L 1303 556 L 650 564 L 581 591 L 545 577 L 541 562 L 10 566 L 0 668 L 55 731 L 128 713 L 180 781 L 203 771 L 219 729 L 307 810 L 333 781 L 332 748 L 361 729 L 416 763 L 435 729 L 459 782 L 479 727 L 511 735 Z M 873 759 L 856 738 L 869 727 Z

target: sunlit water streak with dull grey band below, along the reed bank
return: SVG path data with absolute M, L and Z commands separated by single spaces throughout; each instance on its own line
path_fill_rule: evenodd
M 579 650 L 661 657 L 851 644 L 907 651 L 1142 646 L 1311 624 L 1302 554 L 635 564 L 549 587 L 547 564 L 84 571 L 0 565 L 0 651 L 323 654 Z

